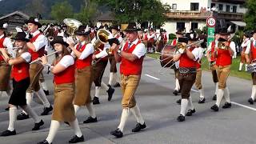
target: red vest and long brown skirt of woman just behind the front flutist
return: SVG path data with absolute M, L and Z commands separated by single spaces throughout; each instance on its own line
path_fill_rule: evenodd
M 86 44 L 79 46 L 76 49 L 82 53 L 86 50 Z M 75 96 L 74 105 L 85 106 L 91 102 L 90 87 L 93 81 L 92 74 L 92 54 L 85 59 L 76 58 L 75 60 Z

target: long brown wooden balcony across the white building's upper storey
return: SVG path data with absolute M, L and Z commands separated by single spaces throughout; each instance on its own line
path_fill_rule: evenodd
M 190 11 L 190 10 L 175 10 L 166 13 L 168 19 L 175 20 L 206 20 L 206 18 L 210 17 L 210 11 L 201 10 L 201 11 Z M 218 12 L 218 19 L 226 19 L 233 21 L 242 21 L 243 14 L 240 13 L 226 13 L 226 12 Z

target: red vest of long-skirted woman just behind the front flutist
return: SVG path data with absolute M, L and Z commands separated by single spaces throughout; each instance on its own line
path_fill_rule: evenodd
M 79 49 L 79 46 L 80 44 L 78 44 L 78 46 L 76 47 L 76 49 L 82 53 L 83 50 L 86 49 L 86 45 L 82 46 L 80 49 Z M 85 68 L 86 66 L 90 66 L 91 65 L 91 62 L 92 62 L 92 58 L 93 58 L 93 54 L 90 54 L 87 58 L 84 58 L 84 59 L 79 59 L 77 58 L 76 61 L 75 61 L 75 66 L 77 69 L 83 69 Z

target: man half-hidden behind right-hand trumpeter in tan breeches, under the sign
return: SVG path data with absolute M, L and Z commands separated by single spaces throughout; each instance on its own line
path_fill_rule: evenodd
M 217 99 L 217 93 L 218 93 L 218 76 L 217 76 L 217 66 L 216 66 L 216 58 L 214 57 L 214 50 L 218 47 L 218 39 L 220 38 L 220 34 L 218 33 L 218 30 L 215 31 L 214 41 L 210 42 L 210 45 L 208 46 L 206 57 L 209 62 L 212 78 L 214 81 L 215 86 L 215 92 L 213 100 L 215 101 Z

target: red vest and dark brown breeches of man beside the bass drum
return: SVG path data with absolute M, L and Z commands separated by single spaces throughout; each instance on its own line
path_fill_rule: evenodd
M 191 47 L 190 51 L 192 50 L 194 50 L 194 48 Z M 186 54 L 182 54 L 179 58 L 178 70 L 178 82 L 180 84 L 180 90 L 182 91 L 182 98 L 188 99 L 196 78 L 196 61 L 188 58 Z

